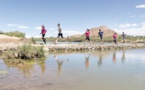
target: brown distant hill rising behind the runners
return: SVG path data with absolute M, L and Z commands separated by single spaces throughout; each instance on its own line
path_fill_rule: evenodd
M 106 26 L 100 26 L 100 27 L 96 27 L 96 28 L 91 28 L 90 29 L 90 36 L 98 36 L 99 29 L 101 29 L 101 31 L 104 32 L 104 34 L 103 34 L 104 37 L 113 36 L 113 34 L 115 33 L 114 30 L 111 30 Z M 85 31 L 84 31 L 84 33 L 85 33 Z M 76 35 L 72 35 L 71 37 L 81 37 L 83 35 L 84 34 L 76 34 Z M 120 34 L 118 34 L 118 35 L 120 35 Z

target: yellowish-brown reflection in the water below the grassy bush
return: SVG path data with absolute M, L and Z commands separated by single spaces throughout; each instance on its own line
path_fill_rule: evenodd
M 40 60 L 4 60 L 5 65 L 8 68 L 17 68 L 25 76 L 30 76 L 31 71 L 34 69 L 34 65 L 38 63 L 40 65 L 42 73 L 45 72 L 45 58 Z

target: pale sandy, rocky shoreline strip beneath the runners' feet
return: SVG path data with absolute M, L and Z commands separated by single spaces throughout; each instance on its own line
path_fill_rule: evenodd
M 18 46 L 24 45 L 26 43 L 3 43 L 0 44 L 0 50 L 1 51 L 7 51 L 11 49 L 15 49 Z M 83 50 L 113 50 L 113 49 L 134 49 L 134 48 L 145 48 L 144 43 L 119 43 L 118 45 L 115 45 L 113 43 L 111 44 L 31 44 L 32 46 L 43 46 L 44 51 L 51 52 L 51 51 L 83 51 Z

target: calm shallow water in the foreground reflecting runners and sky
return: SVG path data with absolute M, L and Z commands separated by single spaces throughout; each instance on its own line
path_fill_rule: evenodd
M 0 60 L 0 90 L 145 90 L 145 49 L 48 54 L 11 66 Z M 3 73 L 1 71 L 7 71 Z

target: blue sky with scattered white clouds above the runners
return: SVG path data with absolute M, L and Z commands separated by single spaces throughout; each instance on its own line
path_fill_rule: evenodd
M 57 37 L 58 23 L 65 37 L 99 26 L 145 36 L 145 0 L 0 0 L 0 31 L 41 37 L 44 25 Z

